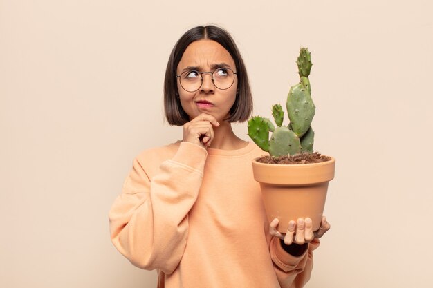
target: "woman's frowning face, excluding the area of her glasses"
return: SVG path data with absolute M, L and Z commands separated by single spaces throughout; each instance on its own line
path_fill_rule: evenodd
M 231 68 L 234 72 L 237 72 L 230 53 L 221 44 L 213 40 L 203 39 L 192 42 L 186 48 L 177 66 L 176 73 L 181 75 L 185 70 L 213 72 L 221 67 Z M 206 113 L 221 122 L 229 116 L 230 108 L 232 108 L 236 99 L 237 75 L 234 75 L 232 86 L 226 90 L 220 90 L 214 86 L 210 73 L 203 74 L 203 84 L 195 92 L 184 90 L 179 78 L 177 87 L 182 108 L 190 116 L 190 119 L 194 119 L 201 113 Z

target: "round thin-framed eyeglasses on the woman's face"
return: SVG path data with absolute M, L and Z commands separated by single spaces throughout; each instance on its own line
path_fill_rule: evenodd
M 230 68 L 218 68 L 214 70 L 214 72 L 185 70 L 181 75 L 176 75 L 176 77 L 179 78 L 183 90 L 187 92 L 195 92 L 196 90 L 199 90 L 203 84 L 203 74 L 205 73 L 210 73 L 214 86 L 219 88 L 219 90 L 227 90 L 230 88 L 234 83 L 234 74 L 237 74 L 237 72 L 233 72 Z

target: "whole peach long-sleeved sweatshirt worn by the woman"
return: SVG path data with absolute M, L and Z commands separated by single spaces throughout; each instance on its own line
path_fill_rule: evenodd
M 188 142 L 142 152 L 109 213 L 111 240 L 133 265 L 158 271 L 158 287 L 303 287 L 313 240 L 294 257 L 268 233 L 251 160 L 239 150 Z

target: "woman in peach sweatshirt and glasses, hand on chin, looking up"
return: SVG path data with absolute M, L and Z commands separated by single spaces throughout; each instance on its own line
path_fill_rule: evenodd
M 287 233 L 268 224 L 251 160 L 263 155 L 232 131 L 252 111 L 246 68 L 216 26 L 187 31 L 165 74 L 165 116 L 183 140 L 143 151 L 110 211 L 111 240 L 158 287 L 302 287 L 329 223 Z

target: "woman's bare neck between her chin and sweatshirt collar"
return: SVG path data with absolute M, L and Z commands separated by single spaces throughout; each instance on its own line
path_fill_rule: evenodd
M 214 127 L 214 139 L 209 148 L 236 150 L 246 146 L 248 142 L 234 134 L 232 124 L 225 121 L 220 123 L 219 127 Z

